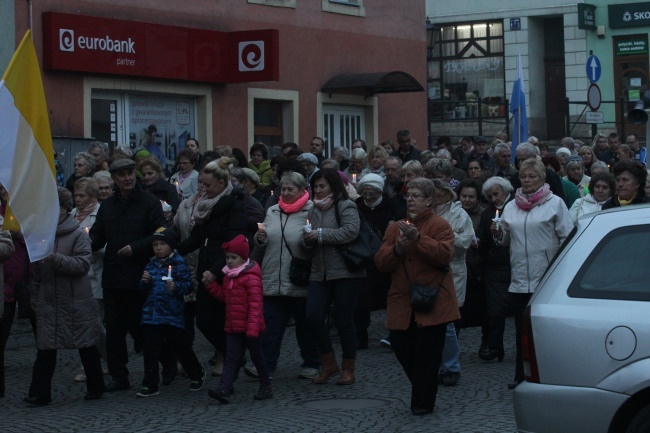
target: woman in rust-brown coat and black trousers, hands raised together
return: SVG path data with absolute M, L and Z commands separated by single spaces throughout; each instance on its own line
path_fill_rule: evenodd
M 435 195 L 431 180 L 409 182 L 405 195 L 408 217 L 388 226 L 375 255 L 377 268 L 391 274 L 386 327 L 397 360 L 411 382 L 413 415 L 433 412 L 447 324 L 460 319 L 449 271 L 454 232 L 447 221 L 431 211 Z M 440 288 L 431 311 L 411 309 L 411 284 Z

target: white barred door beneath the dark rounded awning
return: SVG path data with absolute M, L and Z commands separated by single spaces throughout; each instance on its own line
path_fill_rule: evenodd
M 326 155 L 332 155 L 334 146 L 350 150 L 356 138 L 365 139 L 365 112 L 363 107 L 327 105 L 323 107 L 323 139 L 327 142 Z

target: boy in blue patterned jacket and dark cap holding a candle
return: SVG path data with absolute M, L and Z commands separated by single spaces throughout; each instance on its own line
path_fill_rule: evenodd
M 186 340 L 183 318 L 184 296 L 192 290 L 192 274 L 174 249 L 176 234 L 161 227 L 154 233 L 154 257 L 144 269 L 141 287 L 147 291 L 142 307 L 144 379 L 138 397 L 158 395 L 158 361 L 166 341 L 190 377 L 190 391 L 203 387 L 205 371 Z M 168 385 L 171 381 L 165 382 Z

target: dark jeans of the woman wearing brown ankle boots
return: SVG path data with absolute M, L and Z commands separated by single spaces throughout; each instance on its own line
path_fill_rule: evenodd
M 330 305 L 333 304 L 334 323 L 341 339 L 343 357 L 356 358 L 357 331 L 354 326 L 354 312 L 362 284 L 362 278 L 309 283 L 306 318 L 320 355 L 334 350 L 325 324 L 325 317 L 330 310 Z

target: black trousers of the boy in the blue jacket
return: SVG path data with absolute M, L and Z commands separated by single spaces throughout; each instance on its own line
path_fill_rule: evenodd
M 181 365 L 192 380 L 198 380 L 203 368 L 194 354 L 192 345 L 187 342 L 183 329 L 171 325 L 142 325 L 144 338 L 144 379 L 142 385 L 153 390 L 158 389 L 160 371 L 158 362 L 161 359 L 163 346 L 169 346 L 171 352 L 178 357 Z

